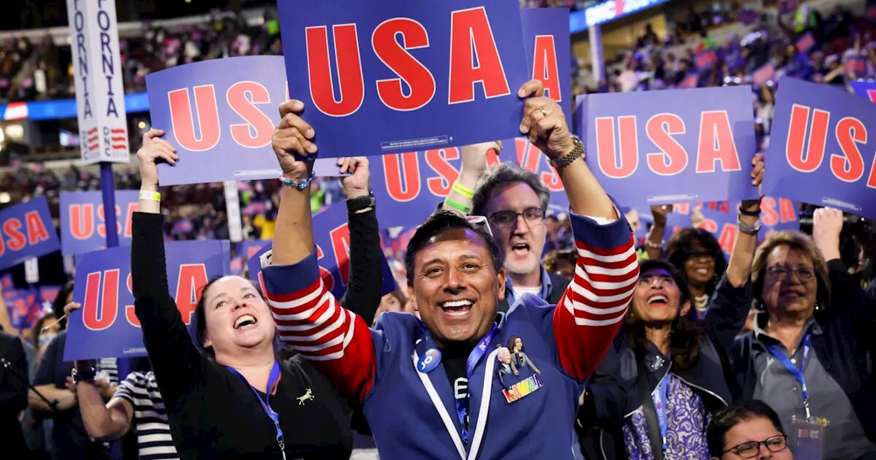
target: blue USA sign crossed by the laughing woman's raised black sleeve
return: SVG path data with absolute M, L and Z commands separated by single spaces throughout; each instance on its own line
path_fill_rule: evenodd
M 208 280 L 228 274 L 227 241 L 165 243 L 170 293 L 188 324 Z M 134 312 L 131 248 L 88 252 L 78 258 L 73 299 L 82 304 L 68 319 L 64 360 L 143 357 L 143 334 Z

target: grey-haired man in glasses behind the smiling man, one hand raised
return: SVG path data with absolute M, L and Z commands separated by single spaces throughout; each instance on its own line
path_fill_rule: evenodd
M 511 162 L 487 169 L 487 152 L 500 148 L 498 142 L 463 147 L 462 171 L 443 209 L 485 216 L 490 224 L 507 275 L 505 299 L 499 302 L 499 311 L 508 311 L 527 293 L 556 304 L 569 280 L 541 265 L 548 235 L 544 221 L 550 191 L 538 175 Z

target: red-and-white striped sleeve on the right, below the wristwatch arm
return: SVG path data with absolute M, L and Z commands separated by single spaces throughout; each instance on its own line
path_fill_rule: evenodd
M 578 258 L 575 278 L 554 310 L 554 336 L 563 369 L 583 382 L 618 333 L 639 279 L 639 261 L 623 215 L 611 223 L 569 218 Z

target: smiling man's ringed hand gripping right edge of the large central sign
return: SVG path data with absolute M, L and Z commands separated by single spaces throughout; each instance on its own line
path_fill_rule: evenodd
M 559 159 L 572 152 L 575 143 L 560 104 L 544 94 L 544 86 L 538 80 L 526 81 L 520 87 L 517 96 L 526 98 L 520 132 L 548 157 Z

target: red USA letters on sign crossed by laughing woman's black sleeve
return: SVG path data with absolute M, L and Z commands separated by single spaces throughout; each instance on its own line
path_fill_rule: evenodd
M 85 301 L 82 303 L 82 322 L 89 330 L 104 330 L 116 323 L 119 311 L 120 270 L 117 268 L 103 272 L 90 272 L 85 279 Z M 203 264 L 183 264 L 179 267 L 176 285 L 177 309 L 182 321 L 192 321 L 194 307 L 201 289 L 207 285 L 207 268 Z M 125 278 L 128 294 L 133 293 L 131 274 Z M 140 327 L 140 321 L 133 305 L 124 305 L 124 319 L 131 326 Z

